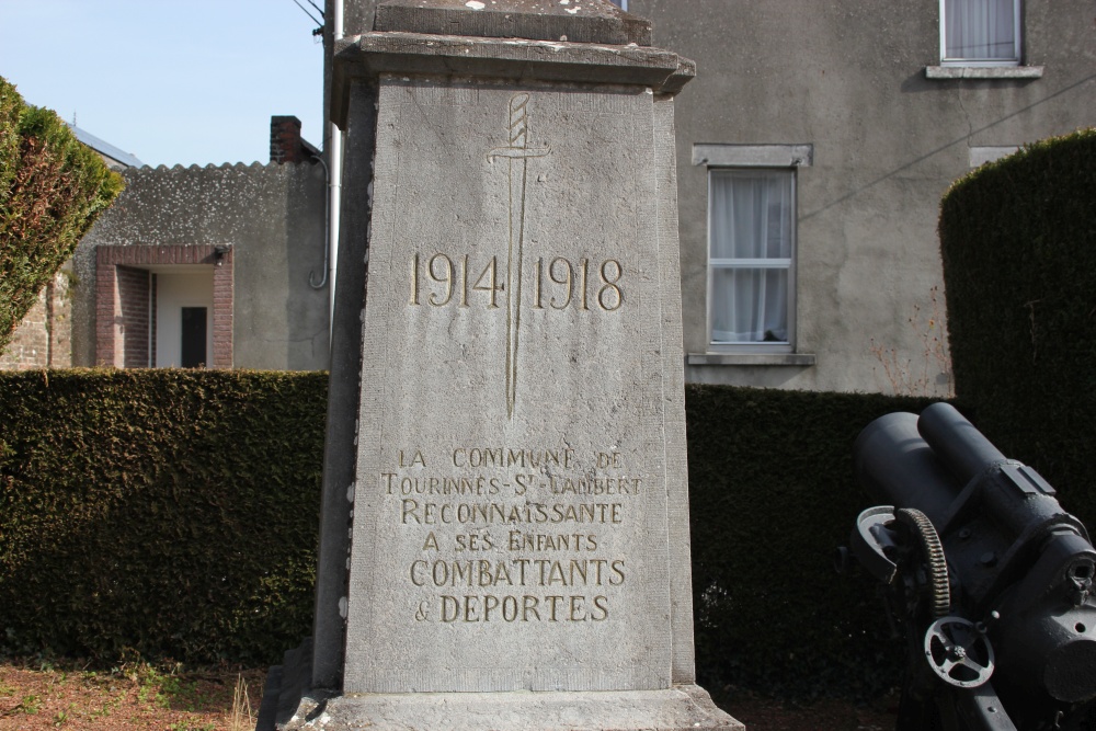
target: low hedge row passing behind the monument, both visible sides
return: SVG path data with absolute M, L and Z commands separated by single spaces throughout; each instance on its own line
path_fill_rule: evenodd
M 831 560 L 874 503 L 849 448 L 924 402 L 690 387 L 694 606 L 709 685 L 897 678 L 874 582 Z M 310 629 L 322 374 L 0 373 L 0 644 L 266 664 Z

